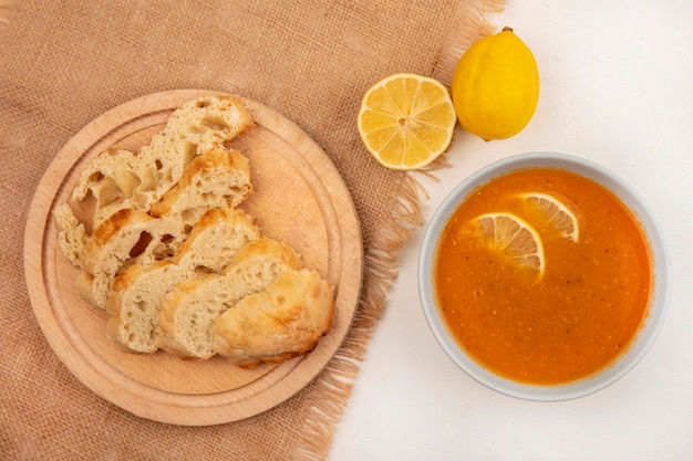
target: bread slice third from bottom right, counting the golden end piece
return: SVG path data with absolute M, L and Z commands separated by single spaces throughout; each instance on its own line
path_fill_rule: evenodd
M 127 350 L 155 352 L 164 295 L 200 273 L 220 272 L 259 238 L 255 220 L 244 211 L 207 211 L 173 259 L 132 265 L 114 280 L 107 302 L 108 337 Z

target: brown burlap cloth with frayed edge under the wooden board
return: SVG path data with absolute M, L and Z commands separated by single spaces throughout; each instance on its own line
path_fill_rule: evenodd
M 360 143 L 361 96 L 395 72 L 448 83 L 459 53 L 490 32 L 484 13 L 500 8 L 498 0 L 0 0 L 0 458 L 325 458 L 397 252 L 420 224 L 415 181 L 380 167 Z M 23 274 L 27 210 L 60 148 L 103 112 L 173 88 L 240 94 L 298 123 L 342 174 L 365 251 L 355 323 L 328 368 L 285 404 L 210 427 L 141 419 L 83 386 L 44 339 Z

